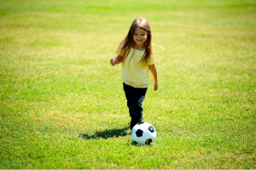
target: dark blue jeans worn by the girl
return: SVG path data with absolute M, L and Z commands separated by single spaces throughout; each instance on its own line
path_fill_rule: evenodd
M 146 96 L 148 88 L 133 88 L 123 83 L 127 106 L 131 116 L 131 129 L 138 122 L 143 121 L 143 99 Z

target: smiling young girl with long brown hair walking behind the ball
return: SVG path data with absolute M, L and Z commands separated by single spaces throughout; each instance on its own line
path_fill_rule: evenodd
M 152 34 L 148 20 L 137 18 L 131 24 L 125 39 L 116 50 L 117 57 L 111 65 L 122 63 L 121 78 L 131 116 L 131 129 L 143 121 L 143 99 L 148 89 L 148 72 L 154 79 L 154 91 L 158 89 L 157 71 L 154 65 Z

